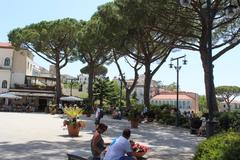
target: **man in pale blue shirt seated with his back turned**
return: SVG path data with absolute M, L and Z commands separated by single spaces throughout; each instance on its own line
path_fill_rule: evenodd
M 103 160 L 136 160 L 128 139 L 131 136 L 129 129 L 124 129 L 122 136 L 117 138 L 109 147 Z M 127 155 L 125 155 L 127 154 Z

